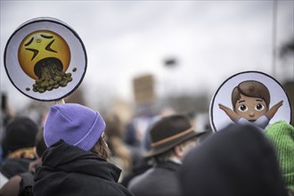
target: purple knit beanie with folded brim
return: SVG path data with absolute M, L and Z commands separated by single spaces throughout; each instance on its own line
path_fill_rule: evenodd
M 78 103 L 56 104 L 50 108 L 44 127 L 47 147 L 61 139 L 90 151 L 105 129 L 102 116 Z

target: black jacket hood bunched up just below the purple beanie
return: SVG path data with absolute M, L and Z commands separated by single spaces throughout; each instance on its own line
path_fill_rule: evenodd
M 48 148 L 42 159 L 42 169 L 77 172 L 89 176 L 118 181 L 121 170 L 96 154 L 83 151 L 78 147 L 64 143 L 62 140 Z M 43 176 L 41 176 L 43 177 Z

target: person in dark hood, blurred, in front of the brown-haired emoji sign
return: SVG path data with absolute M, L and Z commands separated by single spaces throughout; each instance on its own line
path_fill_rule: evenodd
M 257 127 L 232 125 L 193 148 L 179 170 L 182 195 L 287 195 L 274 148 Z

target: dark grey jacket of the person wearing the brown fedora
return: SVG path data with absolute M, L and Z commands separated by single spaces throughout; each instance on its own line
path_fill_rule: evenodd
M 179 195 L 180 187 L 176 176 L 179 167 L 181 165 L 172 161 L 161 162 L 133 178 L 128 184 L 128 190 L 135 196 Z

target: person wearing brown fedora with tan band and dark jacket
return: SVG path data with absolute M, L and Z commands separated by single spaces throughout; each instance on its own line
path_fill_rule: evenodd
M 195 132 L 186 115 L 173 114 L 159 119 L 150 129 L 151 150 L 145 155 L 152 157 L 156 164 L 135 176 L 127 189 L 135 196 L 180 195 L 177 171 L 184 155 L 195 146 L 202 134 Z

